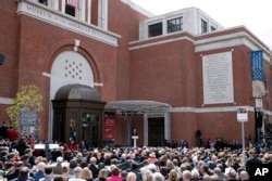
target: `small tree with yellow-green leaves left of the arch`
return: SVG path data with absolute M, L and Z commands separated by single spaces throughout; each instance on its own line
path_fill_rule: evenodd
M 35 85 L 22 86 L 16 96 L 13 99 L 13 104 L 7 108 L 10 117 L 11 125 L 18 130 L 22 120 L 22 113 L 36 112 L 37 114 L 42 111 L 44 96 L 39 92 L 39 88 Z M 30 120 L 29 120 L 30 121 Z M 41 131 L 40 119 L 38 118 L 37 131 Z M 29 131 L 29 128 L 26 128 Z M 27 132 L 29 133 L 29 132 Z

